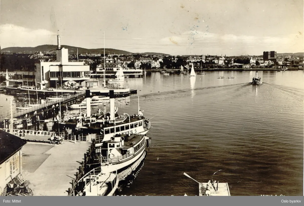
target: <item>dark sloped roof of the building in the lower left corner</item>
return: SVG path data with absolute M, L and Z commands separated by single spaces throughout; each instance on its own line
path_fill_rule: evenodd
M 11 157 L 25 144 L 26 140 L 0 130 L 0 164 Z

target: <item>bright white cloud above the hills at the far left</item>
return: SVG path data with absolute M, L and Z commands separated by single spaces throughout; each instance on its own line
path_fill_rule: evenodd
M 2 48 L 56 44 L 54 35 L 56 33 L 45 29 L 27 29 L 13 24 L 0 25 L 0 43 Z

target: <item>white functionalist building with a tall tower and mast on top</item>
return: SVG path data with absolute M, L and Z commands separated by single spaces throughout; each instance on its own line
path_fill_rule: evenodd
M 40 89 L 48 87 L 61 87 L 67 81 L 76 82 L 75 86 L 85 86 L 85 81 L 90 79 L 90 66 L 85 62 L 69 62 L 68 49 L 61 48 L 60 36 L 57 35 L 56 62 L 35 63 L 35 79 Z

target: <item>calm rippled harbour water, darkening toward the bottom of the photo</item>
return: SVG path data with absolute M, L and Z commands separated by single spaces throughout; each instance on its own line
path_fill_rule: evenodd
M 183 173 L 206 182 L 223 170 L 214 179 L 228 182 L 231 195 L 303 195 L 303 71 L 259 71 L 259 86 L 248 84 L 253 76 L 126 79 L 151 118 L 152 145 L 133 184 L 119 194 L 198 195 L 198 184 Z M 6 97 L 0 94 L 0 104 L 9 106 Z M 116 103 L 119 113 L 137 113 L 137 96 Z

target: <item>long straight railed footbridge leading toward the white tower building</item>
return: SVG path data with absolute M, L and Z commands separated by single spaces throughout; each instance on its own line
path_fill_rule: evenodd
M 72 94 L 71 96 L 64 97 L 64 98 L 62 98 L 60 100 L 56 100 L 56 101 L 52 101 L 52 102 L 46 102 L 44 104 L 33 106 L 33 107 L 31 107 L 31 108 L 29 108 L 27 110 L 22 110 L 22 111 L 15 110 L 15 111 L 13 111 L 13 118 L 19 117 L 19 116 L 22 116 L 22 115 L 25 115 L 25 114 L 28 114 L 28 113 L 31 113 L 31 112 L 34 112 L 36 110 L 44 109 L 44 108 L 46 108 L 48 106 L 56 105 L 56 104 L 59 104 L 59 103 L 64 103 L 64 102 L 66 102 L 68 100 L 71 100 L 71 99 L 74 99 L 74 98 L 77 98 L 77 97 L 80 97 L 80 96 L 83 96 L 83 95 L 85 95 L 85 91 L 78 92 L 76 94 Z M 7 114 L 3 113 L 0 116 L 0 121 L 2 122 L 4 119 L 9 119 L 9 118 L 11 118 L 11 115 L 10 115 L 9 112 L 7 112 Z

